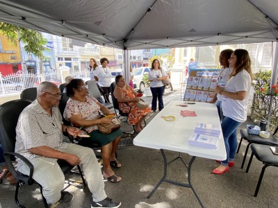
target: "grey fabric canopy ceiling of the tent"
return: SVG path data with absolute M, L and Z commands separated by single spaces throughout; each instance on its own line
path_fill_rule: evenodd
M 0 0 L 0 21 L 119 49 L 276 41 L 277 0 Z

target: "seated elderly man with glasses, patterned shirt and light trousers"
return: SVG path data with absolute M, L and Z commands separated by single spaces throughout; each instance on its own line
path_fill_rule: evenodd
M 92 192 L 91 207 L 120 207 L 106 196 L 100 166 L 90 148 L 63 142 L 63 132 L 76 137 L 76 128 L 63 125 L 58 110 L 60 90 L 54 83 L 40 83 L 37 99 L 26 107 L 17 123 L 15 152 L 24 155 L 34 166 L 33 179 L 42 185 L 43 195 L 51 207 L 70 202 L 71 193 L 62 191 L 65 176 L 57 159 L 73 166 L 80 164 Z M 19 162 L 18 171 L 28 174 L 28 167 Z M 62 191 L 62 192 L 61 192 Z

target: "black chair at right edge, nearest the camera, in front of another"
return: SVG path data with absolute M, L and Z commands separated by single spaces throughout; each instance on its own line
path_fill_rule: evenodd
M 251 145 L 252 155 L 250 157 L 248 166 L 246 168 L 246 173 L 248 173 L 252 159 L 254 155 L 256 159 L 263 162 L 263 168 L 261 168 L 261 174 L 259 177 L 259 181 L 256 185 L 256 191 L 254 193 L 254 197 L 258 195 L 259 189 L 261 187 L 261 181 L 263 180 L 263 174 L 265 173 L 265 168 L 268 166 L 275 166 L 278 167 L 278 155 L 274 155 L 270 150 L 270 146 L 263 145 L 263 144 L 252 144 Z

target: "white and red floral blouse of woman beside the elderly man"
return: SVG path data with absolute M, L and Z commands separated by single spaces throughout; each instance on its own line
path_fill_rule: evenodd
M 67 121 L 70 121 L 72 116 L 81 114 L 82 119 L 85 120 L 98 119 L 100 107 L 96 102 L 98 102 L 97 99 L 90 95 L 86 96 L 85 102 L 74 101 L 70 98 L 65 106 L 64 118 Z M 88 132 L 92 132 L 97 129 L 97 125 L 85 128 Z

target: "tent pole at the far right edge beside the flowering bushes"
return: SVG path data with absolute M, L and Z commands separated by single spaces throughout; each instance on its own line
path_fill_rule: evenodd
M 276 85 L 277 83 L 277 58 L 278 58 L 278 44 L 274 42 L 273 45 L 275 46 L 275 51 L 272 50 L 272 75 L 271 75 L 271 83 L 270 83 L 270 105 L 268 109 L 268 125 L 266 127 L 266 131 L 269 129 L 271 113 L 272 113 L 272 104 L 273 104 L 273 96 L 272 93 L 272 85 Z M 274 48 L 274 47 L 273 47 Z M 273 54 L 274 53 L 274 54 Z

